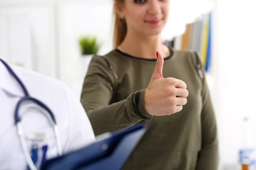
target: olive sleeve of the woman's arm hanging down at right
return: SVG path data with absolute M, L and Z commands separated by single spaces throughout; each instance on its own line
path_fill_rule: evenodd
M 198 56 L 195 56 L 198 57 Z M 202 147 L 198 154 L 196 170 L 217 170 L 219 165 L 218 132 L 204 67 L 199 59 L 202 78 L 201 133 Z M 200 72 L 200 70 L 199 70 Z M 200 74 L 200 73 L 198 73 Z

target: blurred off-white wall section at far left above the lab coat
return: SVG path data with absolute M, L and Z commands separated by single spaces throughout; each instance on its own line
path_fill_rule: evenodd
M 0 6 L 0 57 L 56 77 L 53 14 L 49 5 Z

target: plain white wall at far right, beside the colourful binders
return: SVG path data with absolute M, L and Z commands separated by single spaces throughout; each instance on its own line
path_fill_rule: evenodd
M 252 0 L 217 0 L 214 36 L 216 109 L 221 164 L 236 164 L 243 141 L 241 117 L 250 116 L 256 136 L 256 24 Z M 254 140 L 256 145 L 256 141 Z

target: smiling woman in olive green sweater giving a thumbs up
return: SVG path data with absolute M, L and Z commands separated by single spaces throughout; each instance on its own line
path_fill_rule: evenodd
M 201 62 L 161 42 L 169 3 L 115 0 L 115 49 L 92 58 L 81 103 L 95 135 L 148 126 L 124 170 L 217 170 L 215 113 Z

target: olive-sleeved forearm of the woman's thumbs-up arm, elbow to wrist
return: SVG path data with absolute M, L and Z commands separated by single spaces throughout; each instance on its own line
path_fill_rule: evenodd
M 152 116 L 145 113 L 143 97 L 144 90 L 112 105 L 98 108 L 96 105 L 94 107 L 84 105 L 95 135 L 129 127 L 142 119 L 150 120 Z

